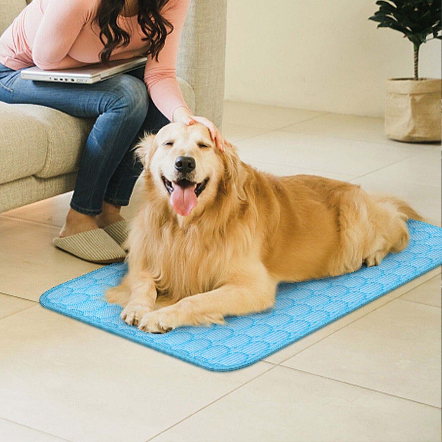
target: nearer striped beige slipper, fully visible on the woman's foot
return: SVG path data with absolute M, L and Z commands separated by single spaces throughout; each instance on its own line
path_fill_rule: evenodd
M 53 244 L 91 263 L 119 263 L 126 257 L 126 252 L 103 229 L 54 238 Z

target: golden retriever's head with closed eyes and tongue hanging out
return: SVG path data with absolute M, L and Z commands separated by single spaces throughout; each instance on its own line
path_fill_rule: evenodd
M 170 123 L 156 135 L 146 135 L 137 156 L 157 194 L 170 201 L 175 212 L 200 213 L 220 192 L 245 199 L 245 170 L 234 148 L 220 152 L 202 124 Z

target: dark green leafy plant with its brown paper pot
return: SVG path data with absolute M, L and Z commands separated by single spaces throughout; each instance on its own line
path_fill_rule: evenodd
M 387 80 L 385 133 L 400 141 L 441 141 L 441 80 L 419 78 L 419 48 L 442 39 L 440 0 L 379 0 L 369 20 L 404 34 L 414 46 L 414 78 Z M 431 38 L 427 36 L 431 35 Z

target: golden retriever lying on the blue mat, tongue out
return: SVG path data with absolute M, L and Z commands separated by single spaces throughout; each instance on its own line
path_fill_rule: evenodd
M 107 291 L 143 331 L 222 324 L 272 307 L 280 281 L 374 266 L 408 243 L 405 202 L 314 175 L 256 171 L 205 126 L 171 123 L 137 147 L 142 202 L 129 271 Z

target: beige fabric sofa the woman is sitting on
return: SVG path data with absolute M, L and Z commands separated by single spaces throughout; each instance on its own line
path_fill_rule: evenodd
M 29 0 L 28 0 L 29 2 Z M 221 126 L 227 0 L 191 0 L 177 76 L 187 105 Z M 0 34 L 26 0 L 0 0 Z M 0 102 L 0 212 L 71 191 L 93 120 Z

